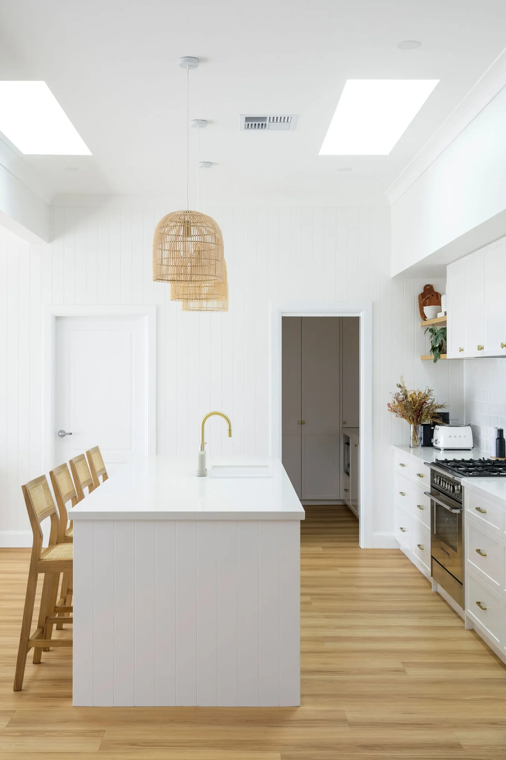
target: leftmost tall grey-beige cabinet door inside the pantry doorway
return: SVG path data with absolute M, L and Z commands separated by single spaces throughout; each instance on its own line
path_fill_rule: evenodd
M 301 498 L 301 317 L 282 317 L 282 463 Z

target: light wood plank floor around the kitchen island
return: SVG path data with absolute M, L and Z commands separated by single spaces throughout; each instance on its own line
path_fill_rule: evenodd
M 302 524 L 301 708 L 72 708 L 72 653 L 12 692 L 29 552 L 0 549 L 0 758 L 506 758 L 506 667 L 345 507 Z

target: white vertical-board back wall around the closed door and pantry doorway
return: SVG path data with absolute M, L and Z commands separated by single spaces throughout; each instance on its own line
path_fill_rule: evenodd
M 53 242 L 29 245 L 0 228 L 0 545 L 28 543 L 21 483 L 41 473 L 41 307 L 156 304 L 158 453 L 197 451 L 210 409 L 215 453 L 265 454 L 269 303 L 364 301 L 374 309 L 373 529 L 390 534 L 390 445 L 406 424 L 387 411 L 400 375 L 435 389 L 460 416 L 460 362 L 421 362 L 416 296 L 426 280 L 390 278 L 386 207 L 211 208 L 224 234 L 227 314 L 188 314 L 151 280 L 151 239 L 165 207 L 54 207 Z M 444 281 L 434 281 L 444 292 Z M 6 361 L 5 361 L 6 357 Z M 381 543 L 381 537 L 377 538 Z

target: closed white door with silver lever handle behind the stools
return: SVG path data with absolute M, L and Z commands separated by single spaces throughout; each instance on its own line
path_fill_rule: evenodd
M 145 317 L 57 317 L 54 357 L 53 467 L 96 445 L 109 472 L 148 454 Z

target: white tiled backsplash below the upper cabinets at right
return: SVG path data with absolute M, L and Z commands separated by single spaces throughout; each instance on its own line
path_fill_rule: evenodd
M 465 420 L 474 445 L 495 454 L 496 428 L 506 429 L 506 359 L 468 359 L 464 365 Z

